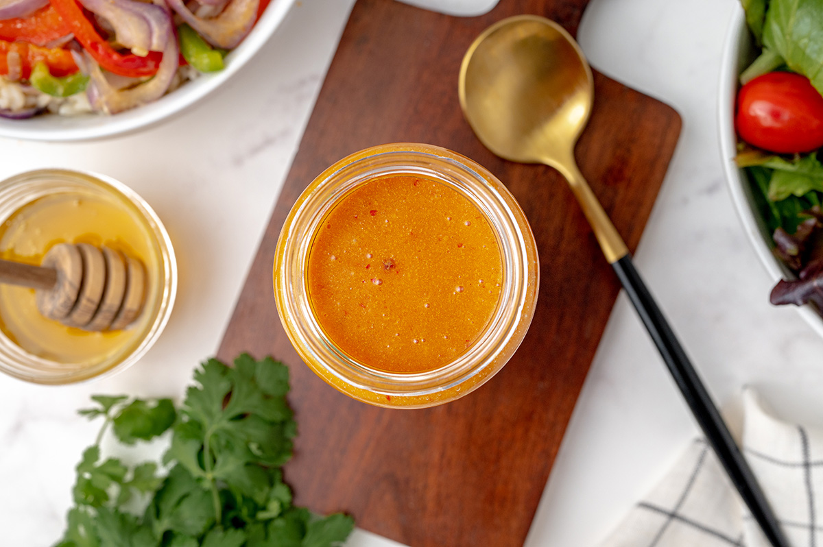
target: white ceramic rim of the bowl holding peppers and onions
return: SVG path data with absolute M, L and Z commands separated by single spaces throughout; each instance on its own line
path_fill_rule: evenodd
M 196 80 L 186 82 L 179 89 L 153 103 L 113 116 L 49 114 L 26 120 L 0 118 L 0 137 L 30 141 L 87 141 L 133 132 L 179 114 L 234 76 L 266 43 L 294 3 L 295 0 L 272 0 L 249 35 L 226 55 L 226 67 L 221 72 L 202 74 Z

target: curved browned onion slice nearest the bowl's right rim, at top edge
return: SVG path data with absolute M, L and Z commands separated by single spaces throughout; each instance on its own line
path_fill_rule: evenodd
M 219 16 L 205 19 L 190 12 L 183 0 L 169 0 L 171 8 L 203 39 L 222 49 L 235 48 L 249 34 L 257 19 L 258 4 L 259 0 L 231 0 Z

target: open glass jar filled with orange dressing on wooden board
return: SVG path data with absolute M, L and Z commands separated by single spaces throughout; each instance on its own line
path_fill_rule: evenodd
M 281 231 L 286 333 L 326 382 L 415 408 L 481 386 L 523 341 L 537 248 L 500 181 L 437 146 L 376 146 L 309 184 Z

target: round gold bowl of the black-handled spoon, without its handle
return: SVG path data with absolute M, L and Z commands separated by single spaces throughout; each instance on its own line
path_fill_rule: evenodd
M 515 16 L 469 47 L 459 76 L 468 123 L 495 155 L 560 167 L 592 111 L 592 70 L 554 21 Z

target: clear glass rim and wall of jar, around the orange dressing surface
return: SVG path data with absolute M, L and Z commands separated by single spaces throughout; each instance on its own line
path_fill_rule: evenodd
M 456 359 L 420 373 L 387 372 L 348 355 L 323 330 L 309 295 L 309 253 L 324 219 L 355 188 L 391 176 L 427 178 L 456 190 L 486 218 L 500 250 L 502 283 L 491 320 Z M 283 225 L 273 277 L 286 333 L 314 373 L 360 401 L 416 408 L 464 396 L 503 367 L 532 322 L 538 270 L 528 221 L 503 183 L 453 151 L 399 143 L 356 152 L 309 184 Z

